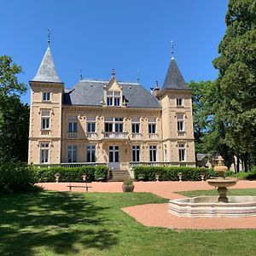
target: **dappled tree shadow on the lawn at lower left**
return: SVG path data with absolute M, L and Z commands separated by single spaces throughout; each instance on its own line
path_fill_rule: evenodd
M 106 207 L 79 193 L 0 194 L 0 254 L 79 253 L 106 249 L 118 241 L 116 230 L 103 228 Z M 113 234 L 115 233 L 115 234 Z

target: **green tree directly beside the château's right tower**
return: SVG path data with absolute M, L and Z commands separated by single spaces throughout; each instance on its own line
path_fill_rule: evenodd
M 201 81 L 189 83 L 192 89 L 195 153 L 224 156 L 225 164 L 233 162 L 233 152 L 224 143 L 225 125 L 216 116 L 219 103 L 215 82 Z

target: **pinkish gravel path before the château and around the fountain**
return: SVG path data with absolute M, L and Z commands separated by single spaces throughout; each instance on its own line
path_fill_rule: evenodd
M 44 189 L 68 191 L 69 183 L 38 183 Z M 72 183 L 84 185 L 84 183 Z M 122 183 L 88 183 L 89 192 L 122 193 Z M 166 199 L 183 198 L 178 191 L 206 190 L 211 187 L 206 182 L 135 182 L 135 192 L 150 192 Z M 256 181 L 238 181 L 232 189 L 256 189 Z M 73 188 L 73 191 L 84 191 L 83 188 Z M 169 229 L 222 230 L 222 229 L 256 229 L 256 217 L 244 218 L 186 218 L 177 217 L 167 212 L 168 204 L 148 204 L 135 207 L 125 207 L 123 211 L 135 218 L 141 224 Z

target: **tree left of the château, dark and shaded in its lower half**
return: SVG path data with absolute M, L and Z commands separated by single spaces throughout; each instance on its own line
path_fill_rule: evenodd
M 0 161 L 27 160 L 29 107 L 20 102 L 26 85 L 22 69 L 9 56 L 0 56 Z

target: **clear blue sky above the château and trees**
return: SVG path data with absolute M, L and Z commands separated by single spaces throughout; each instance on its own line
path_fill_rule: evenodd
M 28 84 L 47 48 L 67 89 L 84 78 L 161 85 L 174 57 L 184 79 L 216 79 L 212 60 L 226 29 L 228 0 L 0 0 L 0 55 L 23 67 Z M 30 101 L 30 90 L 22 96 Z

